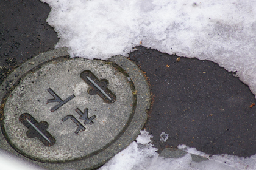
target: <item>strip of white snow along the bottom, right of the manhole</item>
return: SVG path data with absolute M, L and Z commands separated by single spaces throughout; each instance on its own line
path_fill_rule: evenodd
M 140 140 L 138 140 L 138 138 Z M 133 141 L 126 149 L 115 155 L 110 161 L 105 163 L 100 170 L 238 170 L 256 169 L 256 155 L 250 158 L 240 158 L 233 155 L 208 155 L 203 152 L 197 151 L 196 148 L 189 148 L 185 145 L 180 145 L 178 148 L 184 151 L 209 158 L 208 161 L 202 161 L 196 163 L 192 161 L 191 155 L 186 154 L 182 158 L 163 158 L 159 157 L 157 149 L 152 146 L 151 143 L 143 144 L 139 141 L 146 141 L 148 138 L 152 138 L 146 131 L 141 131 L 141 135 L 137 138 L 137 142 Z M 144 138 L 144 140 L 143 140 Z

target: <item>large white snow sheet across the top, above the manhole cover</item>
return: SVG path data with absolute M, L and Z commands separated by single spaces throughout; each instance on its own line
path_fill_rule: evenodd
M 256 0 L 41 0 L 71 56 L 128 56 L 143 46 L 211 60 L 256 94 Z

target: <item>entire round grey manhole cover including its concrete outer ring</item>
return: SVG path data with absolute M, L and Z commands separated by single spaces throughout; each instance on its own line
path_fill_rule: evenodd
M 150 94 L 135 64 L 46 52 L 1 85 L 1 143 L 49 169 L 90 169 L 126 148 L 146 121 Z M 5 140 L 4 140 L 5 138 Z M 1 149 L 13 152 L 7 144 Z

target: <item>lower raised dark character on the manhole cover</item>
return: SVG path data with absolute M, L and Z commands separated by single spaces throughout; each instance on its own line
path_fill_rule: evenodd
M 76 112 L 80 115 L 79 119 L 85 120 L 84 124 L 93 124 L 93 119 L 96 118 L 95 115 L 93 115 L 92 117 L 88 117 L 88 109 L 85 108 L 85 112 L 83 113 L 80 109 L 76 108 Z M 73 116 L 73 115 L 67 115 L 66 117 L 64 117 L 62 119 L 62 121 L 66 121 L 68 119 L 71 119 L 78 127 L 75 131 L 76 134 L 78 134 L 78 132 L 80 130 L 84 131 L 85 127 Z

